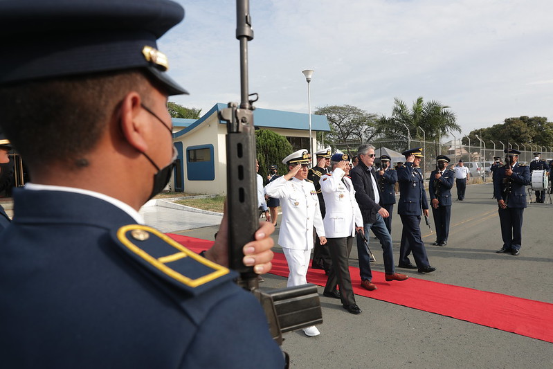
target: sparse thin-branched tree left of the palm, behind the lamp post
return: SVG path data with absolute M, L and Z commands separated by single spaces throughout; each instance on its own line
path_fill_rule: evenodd
M 376 114 L 352 105 L 327 105 L 317 108 L 315 114 L 327 117 L 330 132 L 325 134 L 324 144 L 335 149 L 351 153 L 360 143 L 374 138 Z

